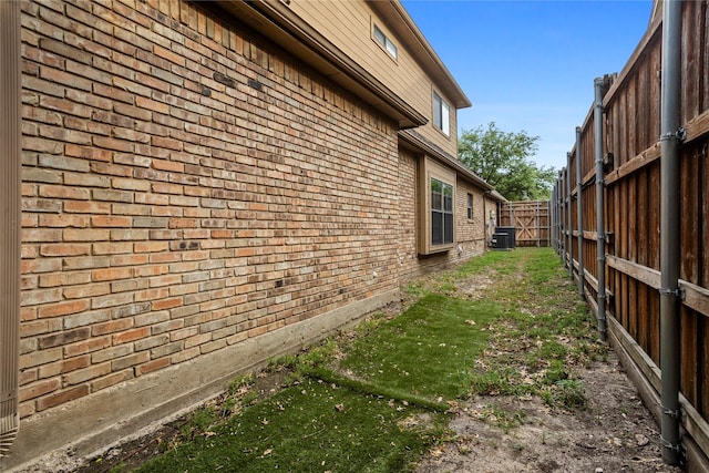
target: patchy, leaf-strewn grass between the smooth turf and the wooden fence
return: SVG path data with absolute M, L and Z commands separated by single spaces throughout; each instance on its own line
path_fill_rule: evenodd
M 517 249 L 524 275 L 497 285 L 491 296 L 506 301 L 507 317 L 490 333 L 484 367 L 476 370 L 472 392 L 536 395 L 552 408 L 584 409 L 583 383 L 576 368 L 604 359 L 593 320 L 566 279 L 551 249 Z

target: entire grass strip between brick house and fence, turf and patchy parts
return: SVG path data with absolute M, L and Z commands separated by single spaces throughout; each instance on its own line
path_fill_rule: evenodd
M 495 282 L 471 298 L 475 278 Z M 410 471 L 446 440 L 450 405 L 470 395 L 585 408 L 575 367 L 605 348 L 551 249 L 491 251 L 404 294 L 397 317 L 273 360 L 267 371 L 286 370 L 290 384 L 276 394 L 260 397 L 253 376 L 235 380 L 140 471 Z M 483 421 L 508 432 L 524 414 L 491 404 Z

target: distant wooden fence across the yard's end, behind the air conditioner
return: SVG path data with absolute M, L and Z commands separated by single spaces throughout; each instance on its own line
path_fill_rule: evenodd
M 551 245 L 548 200 L 503 202 L 499 212 L 500 226 L 515 228 L 516 246 Z

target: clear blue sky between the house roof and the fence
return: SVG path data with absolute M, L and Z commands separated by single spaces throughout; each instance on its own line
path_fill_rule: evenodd
M 643 39 L 651 0 L 402 0 L 473 106 L 459 132 L 495 122 L 538 136 L 537 164 L 559 169 L 594 100 Z

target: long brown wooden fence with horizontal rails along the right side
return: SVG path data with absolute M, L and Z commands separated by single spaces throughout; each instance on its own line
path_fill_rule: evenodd
M 679 107 L 684 136 L 677 137 L 681 179 L 680 405 L 682 444 L 699 452 L 697 457 L 706 461 L 709 455 L 708 2 L 687 1 L 681 11 Z M 599 306 L 605 305 L 608 338 L 623 351 L 621 358 L 627 357 L 626 361 L 641 374 L 638 382 L 646 384 L 646 402 L 660 418 L 664 414 L 657 392 L 661 385 L 661 45 L 662 19 L 656 16 L 623 72 L 604 78 L 603 109 L 598 107 L 602 123 L 597 126 L 592 107 L 583 126 L 577 128 L 576 145 L 554 187 L 551 210 L 552 245 L 572 277 L 580 279 L 579 292 L 597 316 Z M 599 150 L 596 130 L 602 131 Z M 602 156 L 600 183 L 596 181 L 597 156 Z M 596 207 L 598 189 L 604 198 L 600 209 Z M 604 219 L 600 228 L 598 212 Z M 598 241 L 602 257 L 597 253 Z M 602 275 L 599 267 L 605 268 Z M 599 276 L 605 280 L 606 295 L 602 298 Z

